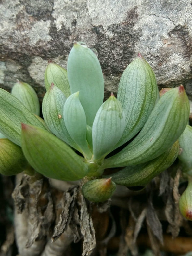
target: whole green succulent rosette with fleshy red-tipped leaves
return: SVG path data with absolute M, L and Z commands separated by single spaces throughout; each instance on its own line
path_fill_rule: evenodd
M 12 94 L 0 89 L 0 132 L 36 172 L 83 179 L 83 195 L 100 202 L 112 196 L 115 184 L 145 186 L 176 159 L 189 117 L 187 95 L 180 85 L 160 97 L 155 74 L 140 53 L 123 72 L 117 98 L 111 93 L 104 103 L 97 52 L 83 42 L 70 51 L 67 71 L 48 64 L 45 88 L 44 119 L 37 116 L 30 85 L 17 82 Z M 2 166 L 0 172 L 10 174 Z M 109 167 L 125 168 L 105 176 Z

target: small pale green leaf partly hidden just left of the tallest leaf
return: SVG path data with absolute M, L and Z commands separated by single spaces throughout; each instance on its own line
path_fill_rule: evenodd
M 67 70 L 52 62 L 48 64 L 45 70 L 45 88 L 47 91 L 51 83 L 54 83 L 64 93 L 66 98 L 70 96 Z

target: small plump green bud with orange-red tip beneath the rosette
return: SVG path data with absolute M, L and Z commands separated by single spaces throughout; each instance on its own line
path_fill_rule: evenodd
M 91 202 L 104 202 L 108 200 L 115 192 L 116 185 L 111 178 L 96 179 L 85 183 L 82 187 L 82 193 L 85 198 Z

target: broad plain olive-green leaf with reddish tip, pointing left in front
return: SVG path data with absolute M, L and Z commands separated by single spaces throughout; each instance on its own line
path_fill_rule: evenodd
M 31 166 L 46 177 L 72 181 L 87 174 L 83 158 L 65 142 L 41 128 L 22 124 L 21 146 Z

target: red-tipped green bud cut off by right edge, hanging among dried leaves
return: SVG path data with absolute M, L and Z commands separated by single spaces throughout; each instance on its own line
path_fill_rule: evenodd
M 179 200 L 179 210 L 184 218 L 192 221 L 192 178 L 189 177 L 186 190 Z

